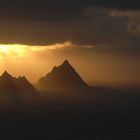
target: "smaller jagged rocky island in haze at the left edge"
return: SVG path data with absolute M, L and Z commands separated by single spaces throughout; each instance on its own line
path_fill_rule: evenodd
M 24 76 L 15 78 L 7 71 L 0 76 L 0 108 L 21 108 L 37 100 L 37 90 Z

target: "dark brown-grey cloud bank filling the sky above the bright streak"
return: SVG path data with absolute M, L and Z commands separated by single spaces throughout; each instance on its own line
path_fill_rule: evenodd
M 0 0 L 0 43 L 71 40 L 110 52 L 140 52 L 139 23 L 136 0 Z

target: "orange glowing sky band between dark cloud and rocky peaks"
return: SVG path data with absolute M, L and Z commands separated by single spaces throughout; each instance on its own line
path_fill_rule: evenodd
M 34 83 L 68 59 L 91 85 L 140 83 L 139 57 L 106 54 L 93 51 L 94 47 L 70 41 L 46 46 L 0 44 L 0 74 L 7 70 Z

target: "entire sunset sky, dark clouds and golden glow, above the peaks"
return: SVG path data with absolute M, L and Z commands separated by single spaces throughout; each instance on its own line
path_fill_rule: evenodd
M 65 59 L 91 85 L 140 86 L 140 2 L 0 0 L 1 73 L 36 82 Z

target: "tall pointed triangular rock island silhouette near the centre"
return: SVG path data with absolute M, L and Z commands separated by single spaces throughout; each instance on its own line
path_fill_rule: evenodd
M 38 83 L 41 87 L 85 87 L 87 84 L 72 67 L 68 60 L 55 66 L 50 73 L 42 77 Z

